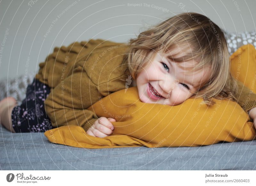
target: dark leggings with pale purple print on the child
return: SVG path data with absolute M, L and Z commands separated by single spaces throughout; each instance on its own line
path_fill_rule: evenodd
M 49 94 L 50 88 L 37 79 L 28 85 L 26 98 L 12 110 L 12 127 L 16 133 L 45 132 L 53 128 L 44 109 Z

